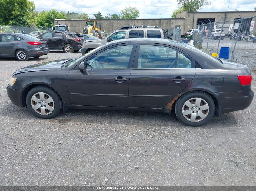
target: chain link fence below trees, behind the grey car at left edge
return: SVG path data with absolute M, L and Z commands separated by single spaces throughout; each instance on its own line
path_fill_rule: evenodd
M 47 31 L 47 27 L 23 27 L 23 26 L 0 26 L 2 33 L 21 33 L 29 34 L 33 31 Z

